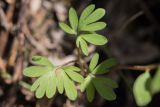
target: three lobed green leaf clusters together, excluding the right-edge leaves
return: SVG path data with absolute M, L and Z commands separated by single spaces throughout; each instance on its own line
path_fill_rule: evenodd
M 107 39 L 97 34 L 96 31 L 106 27 L 105 22 L 99 20 L 105 15 L 105 10 L 102 8 L 95 9 L 95 5 L 89 5 L 84 9 L 80 18 L 78 18 L 75 9 L 69 10 L 70 26 L 61 22 L 59 26 L 66 33 L 76 37 L 76 46 L 81 48 L 84 55 L 88 55 L 87 43 L 94 45 L 104 45 Z M 47 58 L 42 56 L 33 56 L 32 62 L 36 66 L 31 66 L 24 69 L 23 74 L 28 77 L 36 77 L 37 80 L 32 84 L 31 91 L 35 91 L 37 98 L 42 98 L 46 95 L 52 98 L 56 92 L 60 94 L 66 93 L 70 100 L 76 100 L 77 89 L 76 83 L 79 83 L 81 91 L 86 90 L 88 101 L 94 99 L 95 90 L 105 99 L 114 100 L 116 95 L 113 91 L 117 88 L 117 84 L 105 77 L 97 76 L 109 71 L 116 64 L 114 59 L 108 59 L 98 64 L 99 54 L 95 54 L 91 59 L 89 68 L 86 68 L 86 78 L 79 73 L 82 71 L 79 67 L 71 65 L 55 66 Z

